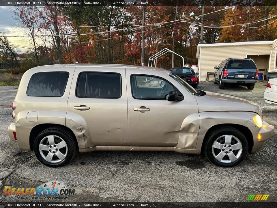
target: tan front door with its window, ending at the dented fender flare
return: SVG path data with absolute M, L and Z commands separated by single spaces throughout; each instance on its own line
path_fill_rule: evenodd
M 176 146 L 190 111 L 184 109 L 186 101 L 169 102 L 167 97 L 170 91 L 181 92 L 162 77 L 126 70 L 126 78 L 131 86 L 127 90 L 128 146 Z

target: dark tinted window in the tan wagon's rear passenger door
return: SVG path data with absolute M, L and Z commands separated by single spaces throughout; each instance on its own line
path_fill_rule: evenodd
M 77 82 L 76 96 L 120 98 L 121 75 L 117 73 L 81 73 Z

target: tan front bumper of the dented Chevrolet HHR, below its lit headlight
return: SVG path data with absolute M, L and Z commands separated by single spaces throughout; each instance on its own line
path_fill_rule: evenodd
M 254 145 L 251 153 L 258 151 L 269 138 L 274 136 L 274 126 L 264 121 L 259 134 L 261 134 L 261 141 L 259 141 L 258 138 L 254 138 Z

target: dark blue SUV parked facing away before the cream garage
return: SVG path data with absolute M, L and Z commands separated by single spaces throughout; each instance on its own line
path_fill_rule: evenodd
M 249 58 L 229 58 L 214 68 L 214 84 L 219 83 L 219 89 L 224 89 L 227 83 L 233 83 L 253 90 L 258 79 L 257 66 Z

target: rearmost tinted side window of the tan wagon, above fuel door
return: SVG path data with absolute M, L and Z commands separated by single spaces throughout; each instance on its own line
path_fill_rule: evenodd
M 28 96 L 61 97 L 65 91 L 69 72 L 38 72 L 32 75 Z

